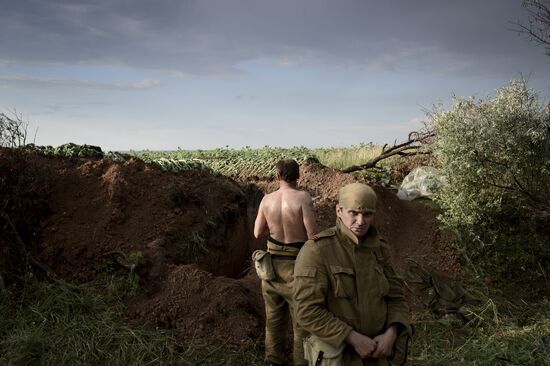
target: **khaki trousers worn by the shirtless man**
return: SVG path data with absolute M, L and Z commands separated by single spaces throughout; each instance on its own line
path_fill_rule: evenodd
M 292 320 L 294 365 L 307 365 L 304 360 L 303 339 L 306 335 L 295 322 L 292 306 L 294 260 L 273 259 L 276 278 L 262 281 L 262 296 L 265 302 L 265 356 L 267 361 L 284 365 L 289 317 Z

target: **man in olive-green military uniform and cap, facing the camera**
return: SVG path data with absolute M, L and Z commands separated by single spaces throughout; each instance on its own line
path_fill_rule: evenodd
M 338 201 L 336 226 L 309 240 L 294 268 L 296 319 L 320 344 L 310 365 L 334 350 L 346 366 L 404 364 L 409 308 L 389 246 L 371 225 L 376 193 L 352 183 Z

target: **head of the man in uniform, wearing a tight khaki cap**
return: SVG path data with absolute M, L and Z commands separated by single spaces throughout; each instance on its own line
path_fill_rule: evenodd
M 369 231 L 376 212 L 376 193 L 362 183 L 351 183 L 338 192 L 336 215 L 357 237 Z

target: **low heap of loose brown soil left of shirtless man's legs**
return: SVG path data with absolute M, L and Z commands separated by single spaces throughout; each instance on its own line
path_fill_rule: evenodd
M 239 281 L 215 277 L 195 265 L 170 265 L 167 272 L 158 292 L 133 301 L 129 313 L 134 322 L 146 319 L 197 338 L 214 335 L 230 344 L 258 338 L 263 315 L 250 301 L 251 290 Z

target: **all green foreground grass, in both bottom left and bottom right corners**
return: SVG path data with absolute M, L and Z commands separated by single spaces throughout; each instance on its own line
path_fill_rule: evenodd
M 9 286 L 0 292 L 0 364 L 263 364 L 261 339 L 237 348 L 183 343 L 175 331 L 129 327 L 124 301 L 136 280 L 110 277 L 75 288 L 27 279 Z M 466 325 L 452 317 L 415 314 L 409 365 L 550 365 L 550 301 L 506 315 L 497 309 L 485 298 Z M 520 313 L 529 316 L 518 321 Z

